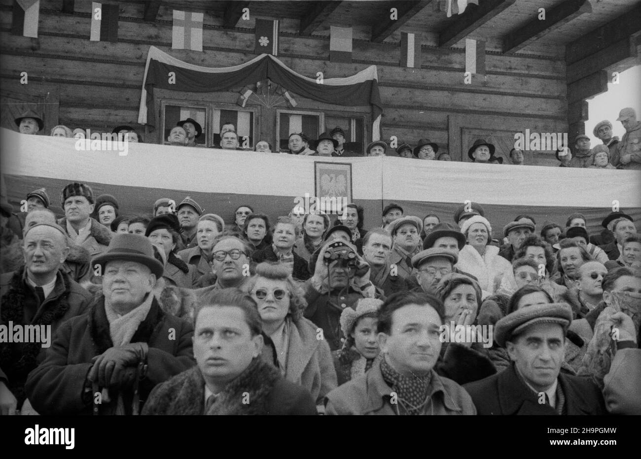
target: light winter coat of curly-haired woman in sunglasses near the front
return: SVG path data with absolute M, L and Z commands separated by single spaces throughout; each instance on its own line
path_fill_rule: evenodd
M 317 405 L 322 405 L 329 391 L 337 387 L 337 380 L 329 344 L 317 339 L 316 329 L 317 326 L 305 318 L 290 321 L 285 379 L 303 387 Z M 271 342 L 266 345 L 263 354 L 271 356 L 272 346 Z M 272 358 L 265 360 L 273 362 Z

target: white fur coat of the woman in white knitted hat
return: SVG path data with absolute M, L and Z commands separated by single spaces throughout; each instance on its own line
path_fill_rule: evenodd
M 512 264 L 499 256 L 499 248 L 496 246 L 485 246 L 485 254 L 482 257 L 478 250 L 471 245 L 463 246 L 458 252 L 456 267 L 469 272 L 478 279 L 483 298 L 493 294 L 495 286 L 500 285 L 504 279 L 506 284 L 514 284 L 513 287 L 516 287 L 516 282 L 510 280 L 513 279 Z

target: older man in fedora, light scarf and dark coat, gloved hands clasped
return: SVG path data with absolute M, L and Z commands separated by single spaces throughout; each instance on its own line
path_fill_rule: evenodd
M 116 234 L 92 264 L 103 293 L 58 328 L 27 379 L 40 414 L 138 414 L 155 385 L 194 366 L 194 327 L 165 314 L 151 293 L 163 265 L 149 239 Z

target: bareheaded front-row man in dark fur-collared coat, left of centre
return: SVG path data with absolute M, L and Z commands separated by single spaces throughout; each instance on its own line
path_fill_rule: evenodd
M 195 317 L 197 366 L 156 386 L 142 414 L 316 414 L 309 392 L 262 361 L 261 321 L 251 296 L 212 291 Z

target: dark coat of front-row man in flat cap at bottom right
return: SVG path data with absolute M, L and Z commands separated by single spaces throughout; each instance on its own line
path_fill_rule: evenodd
M 558 384 L 565 396 L 563 415 L 606 414 L 603 396 L 587 378 L 559 373 Z M 538 394 L 516 373 L 514 364 L 501 373 L 463 386 L 481 415 L 555 415 L 550 405 L 538 403 Z M 557 398 L 558 401 L 558 398 Z

